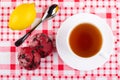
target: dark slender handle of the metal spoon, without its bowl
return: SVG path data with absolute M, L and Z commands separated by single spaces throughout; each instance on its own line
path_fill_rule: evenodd
M 26 33 L 23 37 L 21 37 L 20 39 L 18 39 L 16 42 L 15 42 L 15 46 L 20 46 L 27 38 L 28 36 L 32 33 L 32 31 L 34 31 L 34 29 L 42 22 L 42 20 L 40 20 L 40 22 L 35 26 L 33 27 L 28 33 Z

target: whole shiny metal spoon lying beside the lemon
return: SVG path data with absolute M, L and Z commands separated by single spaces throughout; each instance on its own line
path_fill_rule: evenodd
M 27 37 L 35 30 L 35 28 L 40 24 L 42 23 L 44 20 L 48 19 L 48 18 L 52 18 L 56 15 L 56 13 L 58 12 L 58 5 L 57 4 L 53 4 L 51 5 L 47 11 L 45 12 L 45 14 L 43 15 L 42 19 L 39 21 L 39 23 L 33 27 L 28 33 L 26 33 L 22 38 L 18 39 L 16 42 L 15 42 L 15 46 L 20 46 L 26 39 Z

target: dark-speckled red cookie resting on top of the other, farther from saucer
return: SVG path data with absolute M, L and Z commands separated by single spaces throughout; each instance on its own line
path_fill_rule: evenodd
M 34 70 L 40 65 L 40 54 L 33 47 L 23 47 L 18 53 L 20 66 L 27 70 Z

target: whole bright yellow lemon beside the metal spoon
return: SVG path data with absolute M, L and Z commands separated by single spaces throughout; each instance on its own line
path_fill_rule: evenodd
M 10 15 L 9 28 L 23 30 L 28 28 L 36 18 L 34 3 L 24 3 L 17 6 Z

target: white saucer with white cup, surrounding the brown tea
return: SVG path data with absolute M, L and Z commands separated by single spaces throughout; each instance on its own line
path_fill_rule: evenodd
M 67 42 L 67 36 L 70 30 L 83 22 L 90 22 L 96 25 L 103 36 L 101 50 L 97 55 L 90 58 L 82 58 L 73 54 L 69 50 Z M 113 46 L 114 38 L 109 25 L 100 17 L 88 13 L 79 13 L 66 19 L 56 36 L 56 47 L 59 56 L 67 65 L 78 70 L 92 70 L 102 66 L 112 54 Z

